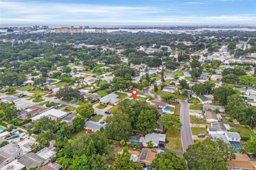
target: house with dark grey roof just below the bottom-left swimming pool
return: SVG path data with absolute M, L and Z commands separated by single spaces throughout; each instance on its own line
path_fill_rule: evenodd
M 18 163 L 25 165 L 27 169 L 37 168 L 39 165 L 47 164 L 46 159 L 29 152 L 18 159 Z

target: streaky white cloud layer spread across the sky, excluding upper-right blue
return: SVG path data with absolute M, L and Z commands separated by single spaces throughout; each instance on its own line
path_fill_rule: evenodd
M 235 1 L 235 0 L 211 0 Z M 182 16 L 190 5 L 206 2 L 155 6 L 110 6 L 75 3 L 44 3 L 0 0 L 0 23 L 204 23 L 255 21 L 256 14 Z M 183 10 L 183 11 L 182 11 Z

